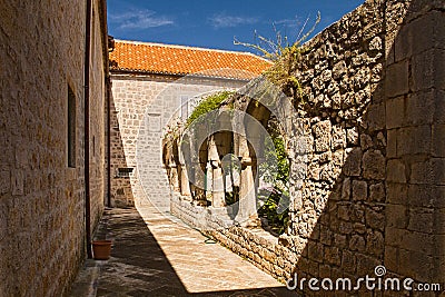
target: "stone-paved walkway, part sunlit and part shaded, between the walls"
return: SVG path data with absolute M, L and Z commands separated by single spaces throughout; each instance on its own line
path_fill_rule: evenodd
M 80 274 L 80 284 L 89 283 L 89 289 L 80 290 L 78 280 L 71 296 L 295 296 L 247 260 L 154 207 L 106 210 L 100 230 L 113 240 L 111 258 L 89 261 L 87 268 L 98 277 Z

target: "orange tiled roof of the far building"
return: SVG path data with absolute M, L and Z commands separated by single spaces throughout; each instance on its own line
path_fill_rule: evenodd
M 253 79 L 271 62 L 250 52 L 116 40 L 111 71 Z

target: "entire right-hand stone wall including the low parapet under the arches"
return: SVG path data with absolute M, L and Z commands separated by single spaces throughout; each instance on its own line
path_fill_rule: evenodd
M 307 42 L 290 67 L 303 98 L 283 88 L 294 102 L 286 248 L 239 227 L 214 236 L 277 277 L 355 280 L 384 265 L 386 277 L 444 284 L 444 22 L 443 1 L 369 0 Z M 255 99 L 235 106 L 263 120 Z M 175 214 L 212 225 L 186 200 Z

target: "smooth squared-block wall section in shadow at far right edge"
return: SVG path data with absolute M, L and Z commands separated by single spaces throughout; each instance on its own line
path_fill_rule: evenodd
M 386 267 L 445 284 L 445 3 L 411 1 L 386 59 Z M 390 12 L 394 14 L 393 12 Z M 444 289 L 444 286 L 443 286 Z

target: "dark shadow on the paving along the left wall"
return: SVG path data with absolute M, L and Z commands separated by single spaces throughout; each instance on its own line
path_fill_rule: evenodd
M 103 220 L 113 247 L 97 296 L 295 296 L 286 287 L 189 293 L 135 208 L 108 210 Z

